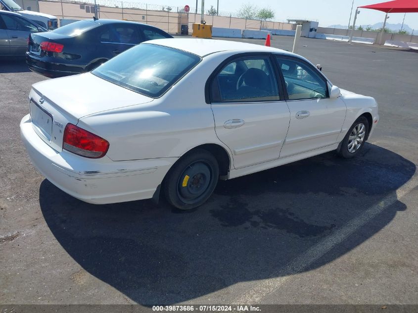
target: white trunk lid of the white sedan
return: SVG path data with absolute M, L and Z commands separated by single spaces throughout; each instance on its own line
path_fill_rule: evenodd
M 91 73 L 36 83 L 29 95 L 32 124 L 56 151 L 68 123 L 86 115 L 151 102 L 153 98 L 109 83 Z

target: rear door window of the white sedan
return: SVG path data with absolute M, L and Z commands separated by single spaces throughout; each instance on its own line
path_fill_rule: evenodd
M 269 57 L 234 60 L 221 70 L 212 84 L 213 102 L 279 100 L 278 84 Z

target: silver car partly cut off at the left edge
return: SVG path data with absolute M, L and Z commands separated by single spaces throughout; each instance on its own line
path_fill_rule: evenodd
M 46 29 L 18 13 L 0 11 L 0 56 L 24 56 L 31 33 Z

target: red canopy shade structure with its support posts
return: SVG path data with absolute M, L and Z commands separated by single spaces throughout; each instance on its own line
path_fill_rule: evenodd
M 386 20 L 387 20 L 387 13 L 418 12 L 418 0 L 393 0 L 393 1 L 388 1 L 388 2 L 381 2 L 381 3 L 376 3 L 376 4 L 359 6 L 356 9 L 356 15 L 354 16 L 353 28 L 351 30 L 351 35 L 350 35 L 350 40 L 349 40 L 350 43 L 353 38 L 353 29 L 356 24 L 356 17 L 357 17 L 358 9 L 360 7 L 365 8 L 365 9 L 373 9 L 373 10 L 386 12 L 385 21 L 383 22 L 383 27 L 382 27 L 382 33 L 380 35 L 380 44 L 382 44 L 383 32 L 384 32 L 384 28 L 386 26 Z

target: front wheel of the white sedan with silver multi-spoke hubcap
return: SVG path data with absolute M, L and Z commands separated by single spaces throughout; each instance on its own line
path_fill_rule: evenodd
M 369 134 L 369 122 L 366 117 L 360 116 L 342 140 L 337 151 L 338 155 L 348 159 L 359 154 L 366 142 L 367 134 Z

